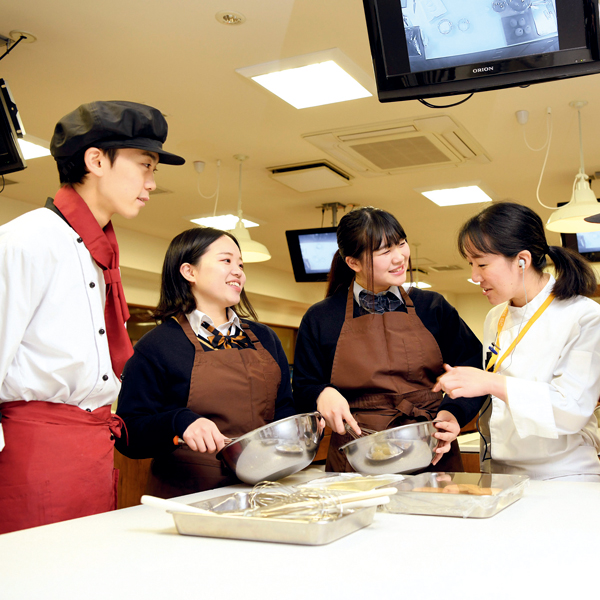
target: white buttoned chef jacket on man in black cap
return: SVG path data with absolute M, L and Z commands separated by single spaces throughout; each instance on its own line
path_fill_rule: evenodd
M 102 269 L 78 240 L 47 208 L 0 227 L 0 402 L 94 410 L 118 396 Z

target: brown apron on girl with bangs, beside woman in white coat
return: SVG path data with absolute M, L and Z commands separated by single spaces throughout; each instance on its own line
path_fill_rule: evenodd
M 408 312 L 353 317 L 354 284 L 348 290 L 346 318 L 335 350 L 331 384 L 348 400 L 360 427 L 383 431 L 435 418 L 442 393 L 431 388 L 444 372 L 440 348 L 400 287 Z M 351 472 L 339 451 L 349 434 L 331 435 L 327 471 Z M 442 460 L 426 470 L 462 471 L 456 441 Z

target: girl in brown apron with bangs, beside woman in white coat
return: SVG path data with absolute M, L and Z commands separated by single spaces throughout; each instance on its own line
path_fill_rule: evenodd
M 436 419 L 435 470 L 462 471 L 455 438 L 483 399 L 443 399 L 432 388 L 444 362 L 480 365 L 481 344 L 441 296 L 404 291 L 410 251 L 390 213 L 354 210 L 337 237 L 328 295 L 305 315 L 294 363 L 298 410 L 316 406 L 333 430 L 327 470 L 352 470 L 339 451 L 353 439 L 344 425 L 358 433 Z

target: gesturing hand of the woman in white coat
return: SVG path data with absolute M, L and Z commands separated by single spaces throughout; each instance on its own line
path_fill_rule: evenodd
M 445 392 L 450 398 L 474 398 L 493 394 L 506 401 L 506 379 L 504 375 L 489 373 L 474 367 L 451 367 L 444 365 L 446 372 L 438 377 L 434 392 Z

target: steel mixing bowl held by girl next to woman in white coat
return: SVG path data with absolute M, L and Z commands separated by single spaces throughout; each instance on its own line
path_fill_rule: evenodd
M 431 462 L 437 445 L 435 431 L 433 421 L 402 425 L 348 442 L 340 451 L 358 473 L 412 473 Z

